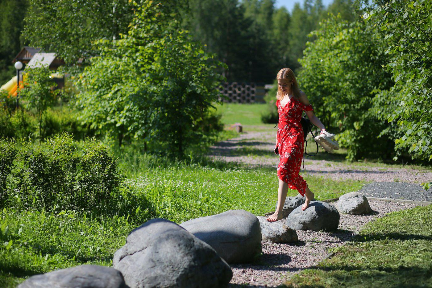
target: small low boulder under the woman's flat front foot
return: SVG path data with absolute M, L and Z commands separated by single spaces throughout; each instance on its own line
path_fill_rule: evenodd
M 280 221 L 268 222 L 266 217 L 257 216 L 261 226 L 261 241 L 290 243 L 299 240 L 297 233 Z

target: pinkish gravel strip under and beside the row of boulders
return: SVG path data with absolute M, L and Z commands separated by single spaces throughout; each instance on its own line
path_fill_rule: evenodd
M 330 203 L 336 205 L 337 202 Z M 327 255 L 327 248 L 337 247 L 358 233 L 367 222 L 389 212 L 415 207 L 411 203 L 369 200 L 369 215 L 340 214 L 334 233 L 297 231 L 299 241 L 290 244 L 262 244 L 263 256 L 254 265 L 233 265 L 230 287 L 276 287 L 291 274 L 313 266 Z M 281 220 L 281 221 L 284 221 Z

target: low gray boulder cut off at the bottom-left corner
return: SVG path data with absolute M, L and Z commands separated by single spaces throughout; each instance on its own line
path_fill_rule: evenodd
M 111 267 L 81 265 L 34 275 L 18 288 L 126 288 L 121 273 Z

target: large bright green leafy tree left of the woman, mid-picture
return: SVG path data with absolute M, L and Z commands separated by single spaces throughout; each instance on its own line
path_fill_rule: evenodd
M 218 102 L 222 76 L 215 71 L 222 63 L 180 28 L 180 2 L 134 5 L 127 35 L 98 41 L 100 56 L 77 82 L 80 119 L 119 146 L 139 139 L 149 150 L 183 158 L 203 138 L 200 123 Z

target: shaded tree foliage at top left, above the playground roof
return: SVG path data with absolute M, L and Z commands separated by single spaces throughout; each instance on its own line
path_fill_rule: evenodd
M 86 63 L 97 54 L 92 41 L 126 32 L 132 14 L 129 0 L 29 0 L 23 34 L 68 64 Z

